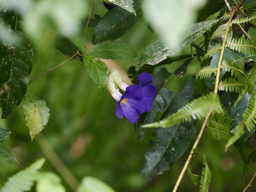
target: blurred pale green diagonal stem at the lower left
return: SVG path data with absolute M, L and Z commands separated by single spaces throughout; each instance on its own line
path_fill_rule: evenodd
M 63 178 L 63 180 L 66 181 L 70 188 L 75 191 L 79 184 L 77 179 L 73 176 L 67 166 L 58 157 L 48 140 L 45 138 L 44 134 L 40 133 L 36 137 L 35 141 L 38 143 L 41 150 L 44 152 L 53 167 L 57 170 L 59 175 Z

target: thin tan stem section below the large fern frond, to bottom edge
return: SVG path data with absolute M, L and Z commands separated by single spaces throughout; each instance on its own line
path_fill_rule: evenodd
M 210 111 L 211 111 L 211 110 L 210 110 Z M 199 142 L 200 139 L 201 139 L 201 136 L 202 136 L 202 134 L 203 134 L 203 132 L 204 132 L 205 126 L 206 126 L 206 124 L 207 124 L 207 121 L 208 121 L 208 119 L 209 119 L 209 117 L 210 117 L 210 114 L 211 114 L 210 111 L 208 112 L 208 115 L 206 116 L 206 118 L 205 118 L 205 120 L 204 120 L 204 123 L 203 123 L 203 125 L 202 125 L 202 127 L 201 127 L 201 130 L 200 130 L 200 132 L 199 132 L 199 134 L 198 134 L 198 136 L 197 136 L 197 140 L 195 141 L 195 143 L 194 143 L 194 145 L 193 145 L 193 147 L 192 147 L 192 150 L 191 150 L 191 152 L 190 152 L 190 154 L 189 154 L 189 156 L 188 156 L 188 158 L 187 158 L 187 161 L 186 161 L 186 163 L 185 163 L 185 165 L 184 165 L 184 167 L 183 167 L 183 169 L 182 169 L 182 171 L 181 171 L 181 173 L 180 173 L 180 176 L 179 176 L 179 178 L 178 178 L 178 180 L 177 180 L 177 182 L 176 182 L 176 184 L 175 184 L 175 186 L 174 186 L 173 192 L 176 192 L 176 191 L 177 191 L 177 189 L 178 189 L 178 187 L 179 187 L 179 185 L 180 185 L 180 182 L 181 182 L 181 180 L 182 180 L 182 178 L 183 178 L 183 176 L 184 176 L 184 174 L 185 174 L 185 172 L 186 172 L 187 166 L 188 166 L 188 164 L 189 164 L 189 162 L 190 162 L 190 160 L 191 160 L 191 158 L 192 158 L 192 155 L 193 155 L 193 153 L 194 153 L 194 150 L 195 150 L 195 148 L 197 148 L 198 142 Z

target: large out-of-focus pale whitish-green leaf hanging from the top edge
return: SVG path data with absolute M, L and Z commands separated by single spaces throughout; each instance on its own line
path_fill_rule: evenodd
M 180 47 L 182 44 L 186 42 L 186 40 L 181 42 L 181 39 L 184 37 L 184 34 L 186 32 L 190 33 L 190 31 L 193 30 L 192 28 L 189 28 L 189 25 L 195 22 L 197 18 L 197 11 L 207 1 L 158 0 L 144 2 L 145 4 L 143 6 L 143 12 L 146 18 L 150 19 L 150 24 L 155 28 L 156 32 L 161 37 L 161 40 L 163 40 L 163 42 L 168 47 L 172 47 L 173 45 L 176 45 L 175 47 Z M 201 24 L 202 26 L 204 25 L 204 23 Z M 198 23 L 197 25 L 200 25 L 200 23 Z M 200 32 L 196 32 L 194 33 L 194 35 L 198 37 L 201 36 Z M 177 41 L 179 41 L 178 44 Z

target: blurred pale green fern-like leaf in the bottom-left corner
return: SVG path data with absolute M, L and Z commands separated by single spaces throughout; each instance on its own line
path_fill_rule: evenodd
M 0 192 L 23 192 L 30 191 L 34 182 L 34 174 L 45 163 L 45 159 L 39 159 L 29 167 L 21 170 L 17 174 L 9 177 L 7 182 L 1 188 Z

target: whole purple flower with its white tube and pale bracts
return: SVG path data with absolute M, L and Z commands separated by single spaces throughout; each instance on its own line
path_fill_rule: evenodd
M 139 75 L 138 80 L 138 84 L 127 86 L 127 84 L 122 82 L 118 71 L 112 70 L 110 72 L 110 80 L 106 86 L 118 103 L 116 116 L 119 119 L 122 119 L 124 116 L 131 123 L 138 121 L 138 114 L 150 112 L 157 90 L 157 88 L 151 84 L 153 82 L 151 74 L 144 72 Z M 117 87 L 125 91 L 123 95 L 119 92 Z

